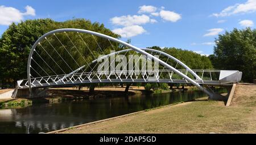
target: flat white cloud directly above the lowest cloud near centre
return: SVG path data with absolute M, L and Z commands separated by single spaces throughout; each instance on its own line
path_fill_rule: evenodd
M 150 22 L 150 17 L 147 15 L 127 15 L 127 16 L 115 16 L 110 19 L 110 22 L 115 25 L 140 25 Z

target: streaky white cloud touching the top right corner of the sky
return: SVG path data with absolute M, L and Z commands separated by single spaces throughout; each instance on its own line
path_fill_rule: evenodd
M 243 14 L 248 12 L 255 12 L 256 11 L 256 0 L 248 0 L 245 3 L 237 3 L 236 5 L 226 7 L 220 13 L 212 14 L 213 16 L 230 16 L 233 14 Z

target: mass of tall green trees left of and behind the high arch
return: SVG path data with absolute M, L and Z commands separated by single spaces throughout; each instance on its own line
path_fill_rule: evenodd
M 24 22 L 20 22 L 18 24 L 12 23 L 9 25 L 9 28 L 3 33 L 3 35 L 0 38 L 0 84 L 2 83 L 2 86 L 13 86 L 18 79 L 26 79 L 27 78 L 27 59 L 28 54 L 30 53 L 30 49 L 32 48 L 32 45 L 38 38 L 44 33 L 47 33 L 49 31 L 52 31 L 53 29 L 59 29 L 59 28 L 79 28 L 79 29 L 87 29 L 90 31 L 95 31 L 99 33 L 104 33 L 105 35 L 112 36 L 115 38 L 119 38 L 120 36 L 110 31 L 110 29 L 105 28 L 104 24 L 100 23 L 92 23 L 89 20 L 86 19 L 72 19 L 67 20 L 65 22 L 55 22 L 52 19 L 35 19 L 35 20 L 26 20 Z M 107 40 L 101 39 L 99 37 L 93 38 L 90 35 L 80 34 L 82 39 L 86 40 L 88 42 L 88 45 L 91 47 L 93 53 L 95 56 L 100 55 L 97 44 L 95 41 L 92 41 L 93 39 L 96 39 L 98 42 L 98 45 L 101 46 L 103 49 L 102 51 L 105 53 L 109 53 L 110 51 L 110 44 L 107 42 Z M 85 64 L 85 62 L 92 61 L 92 56 L 88 55 L 88 49 L 85 49 L 86 46 L 84 42 L 82 42 L 82 39 L 79 35 L 74 35 L 72 33 L 68 33 L 68 37 L 65 36 L 65 33 L 59 34 L 56 33 L 56 36 L 61 40 L 65 41 L 64 45 L 61 45 L 61 43 L 55 38 L 55 36 L 47 37 L 47 40 L 42 41 L 42 46 L 45 46 L 44 49 L 47 50 L 48 53 L 51 53 L 51 55 L 55 56 L 56 58 L 60 56 L 65 57 L 65 61 L 67 63 L 70 63 L 72 65 L 69 65 L 69 67 L 63 67 L 65 66 L 65 62 L 61 60 L 61 58 L 58 58 L 58 62 L 56 62 L 59 66 L 61 66 L 61 70 L 57 65 L 56 73 L 59 73 L 61 71 L 67 71 L 70 72 L 71 70 L 77 68 L 77 66 L 81 66 Z M 54 39 L 53 39 L 54 38 Z M 73 46 L 72 42 L 77 46 Z M 51 48 L 51 45 L 49 45 L 49 42 L 51 42 L 52 46 L 55 47 L 57 52 L 54 49 Z M 117 44 L 113 44 L 117 45 Z M 38 46 L 40 47 L 40 46 Z M 73 57 L 76 57 L 76 62 L 71 58 L 68 57 L 68 52 L 64 49 L 68 48 L 69 53 Z M 117 46 L 118 48 L 118 46 Z M 76 50 L 79 49 L 79 52 Z M 44 52 L 44 50 L 41 48 L 36 48 L 37 52 L 40 56 L 46 57 L 48 54 Z M 67 56 L 67 57 L 66 57 Z M 39 57 L 33 58 L 35 61 L 39 61 Z M 51 59 L 46 60 L 48 63 L 51 63 Z M 32 65 L 36 66 L 35 62 L 31 62 Z M 63 68 L 62 68 L 63 67 Z M 47 68 L 47 67 L 45 67 Z M 42 71 L 39 68 L 35 68 L 39 72 Z M 51 70 L 46 70 L 51 72 Z M 44 72 L 42 72 L 43 74 Z M 61 74 L 61 73 L 60 73 Z M 63 74 L 63 72 L 62 72 Z M 52 74 L 51 74 L 52 75 Z

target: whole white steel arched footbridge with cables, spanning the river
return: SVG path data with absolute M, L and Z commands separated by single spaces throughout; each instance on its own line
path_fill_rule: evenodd
M 118 61 L 111 59 L 118 55 L 126 58 L 129 54 L 142 56 L 137 62 L 128 60 L 133 64 L 129 70 L 123 57 L 118 57 Z M 102 60 L 105 62 L 101 63 Z M 141 66 L 136 67 L 138 62 L 142 62 Z M 149 66 L 154 69 L 148 69 Z M 27 76 L 18 81 L 18 90 L 29 89 L 30 95 L 40 94 L 38 88 L 71 84 L 154 82 L 192 84 L 210 98 L 221 99 L 209 86 L 226 86 L 230 90 L 233 83 L 240 82 L 242 72 L 192 70 L 160 50 L 139 49 L 101 33 L 68 28 L 48 32 L 35 42 L 28 57 Z

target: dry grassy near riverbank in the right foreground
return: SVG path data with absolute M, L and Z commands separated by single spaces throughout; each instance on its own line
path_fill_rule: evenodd
M 256 86 L 238 84 L 228 107 L 205 97 L 60 133 L 256 133 Z

